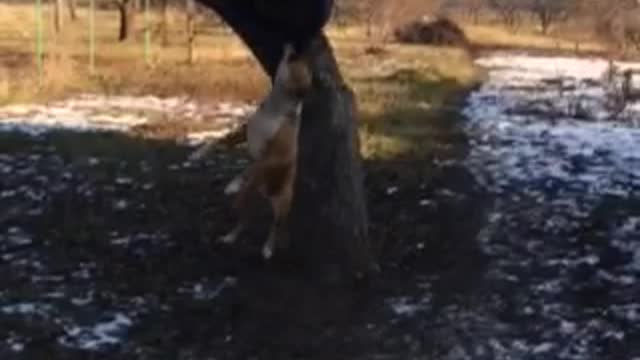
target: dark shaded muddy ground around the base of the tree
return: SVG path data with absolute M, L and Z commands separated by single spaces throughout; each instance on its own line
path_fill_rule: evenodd
M 475 238 L 487 203 L 458 164 L 464 139 L 450 129 L 438 141 L 456 151 L 366 163 L 383 272 L 356 288 L 315 283 L 286 260 L 264 263 L 265 214 L 238 246 L 213 243 L 233 225 L 222 189 L 244 166 L 242 152 L 220 149 L 189 164 L 190 149 L 170 141 L 0 134 L 0 355 L 406 359 L 451 351 L 446 324 L 432 320 L 452 299 L 482 296 Z

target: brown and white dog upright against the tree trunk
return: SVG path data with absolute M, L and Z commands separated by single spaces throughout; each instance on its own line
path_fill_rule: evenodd
M 240 219 L 219 241 L 231 244 L 245 229 L 249 195 L 257 190 L 269 199 L 273 209 L 273 222 L 262 254 L 269 259 L 277 246 L 284 246 L 296 179 L 300 114 L 310 87 L 311 73 L 304 57 L 294 58 L 292 46 L 286 45 L 271 91 L 247 120 L 247 143 L 254 162 L 224 190 L 227 195 L 237 194 L 234 207 Z M 202 157 L 208 147 L 210 144 L 203 145 L 191 158 Z

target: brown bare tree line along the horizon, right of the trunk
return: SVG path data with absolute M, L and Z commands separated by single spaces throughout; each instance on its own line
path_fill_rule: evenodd
M 535 27 L 543 35 L 592 37 L 626 51 L 640 50 L 640 4 L 636 0 L 337 0 L 338 25 L 364 24 L 367 33 L 391 29 L 422 15 L 448 16 L 472 25 L 510 31 Z

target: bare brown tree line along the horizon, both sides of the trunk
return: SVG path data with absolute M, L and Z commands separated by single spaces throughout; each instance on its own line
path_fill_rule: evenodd
M 54 8 L 55 31 L 78 18 L 78 8 L 89 0 L 44 0 Z M 140 14 L 145 1 L 159 18 L 150 29 L 163 45 L 169 42 L 169 21 L 178 13 L 184 21 L 187 41 L 198 31 L 220 27 L 223 22 L 197 0 L 95 0 L 102 10 L 117 11 L 117 40 L 124 42 L 145 30 Z M 8 0 L 33 3 L 33 0 Z M 423 16 L 448 16 L 471 25 L 493 25 L 519 32 L 535 28 L 542 35 L 579 35 L 603 41 L 626 52 L 640 50 L 640 4 L 636 0 L 336 0 L 333 23 L 338 27 L 360 26 L 367 37 L 388 40 L 393 30 Z M 175 16 L 175 15 L 174 15 Z

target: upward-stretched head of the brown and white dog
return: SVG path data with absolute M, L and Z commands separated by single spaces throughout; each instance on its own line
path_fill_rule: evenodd
M 291 44 L 286 44 L 274 86 L 281 87 L 291 96 L 303 98 L 311 88 L 312 75 L 304 56 L 296 54 Z

